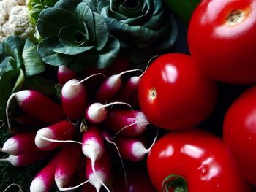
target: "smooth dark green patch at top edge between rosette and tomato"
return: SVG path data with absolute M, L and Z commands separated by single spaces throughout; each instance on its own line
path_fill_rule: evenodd
M 200 1 L 201 0 L 165 0 L 170 9 L 185 23 L 189 23 L 192 13 Z

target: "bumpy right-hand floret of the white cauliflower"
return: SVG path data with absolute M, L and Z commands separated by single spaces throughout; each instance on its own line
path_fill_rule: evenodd
M 25 5 L 12 7 L 8 22 L 11 34 L 20 38 L 27 38 L 34 33 L 34 26 L 29 20 L 29 9 Z

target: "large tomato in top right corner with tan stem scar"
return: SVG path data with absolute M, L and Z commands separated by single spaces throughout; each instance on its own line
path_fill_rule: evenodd
M 256 1 L 203 0 L 189 23 L 188 45 L 214 80 L 256 82 Z

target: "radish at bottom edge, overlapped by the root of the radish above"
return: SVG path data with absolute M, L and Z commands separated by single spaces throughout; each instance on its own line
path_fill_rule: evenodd
M 107 191 L 110 192 L 110 190 L 106 186 L 111 185 L 112 183 L 112 171 L 110 156 L 108 155 L 108 153 L 104 153 L 102 158 L 95 161 L 95 164 L 92 164 L 92 161 L 87 158 L 86 177 L 89 179 L 89 183 L 91 183 L 91 185 L 94 185 L 94 188 L 96 188 L 97 192 L 100 191 L 102 185 L 106 188 Z

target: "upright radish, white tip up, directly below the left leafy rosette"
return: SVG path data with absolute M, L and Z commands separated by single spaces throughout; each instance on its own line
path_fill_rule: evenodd
M 78 80 L 69 80 L 61 90 L 63 110 L 67 118 L 78 120 L 86 108 L 86 88 Z

